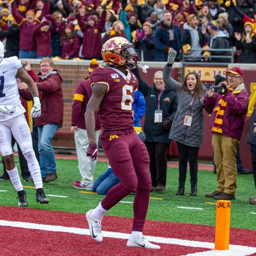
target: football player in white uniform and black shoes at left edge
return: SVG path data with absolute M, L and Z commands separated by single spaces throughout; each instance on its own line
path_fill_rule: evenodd
M 14 163 L 12 135 L 28 162 L 28 169 L 36 187 L 36 201 L 47 204 L 49 199 L 44 194 L 40 167 L 33 150 L 29 126 L 23 114 L 26 110 L 21 105 L 17 78 L 28 85 L 33 95 L 34 106 L 31 109 L 31 117 L 40 116 L 41 103 L 36 84 L 22 68 L 18 57 L 4 58 L 4 45 L 0 41 L 0 151 L 13 186 L 18 192 L 18 206 L 27 206 L 28 203 L 17 166 Z

